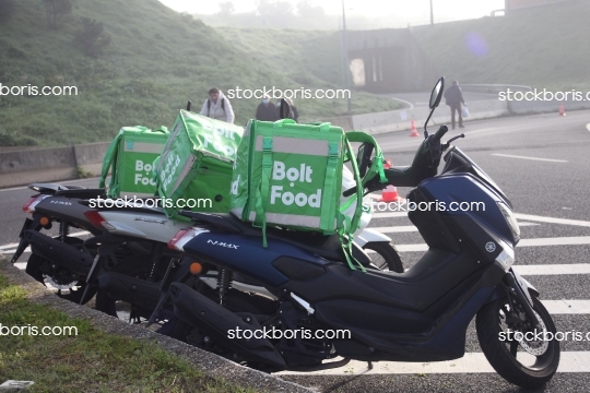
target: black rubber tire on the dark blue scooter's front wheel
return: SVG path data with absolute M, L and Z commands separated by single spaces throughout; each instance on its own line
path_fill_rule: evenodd
M 475 320 L 480 346 L 492 367 L 508 382 L 524 389 L 540 388 L 553 378 L 559 365 L 559 342 L 555 340 L 555 324 L 541 301 L 533 297 L 533 310 L 546 331 L 553 335 L 551 341 L 522 340 L 520 343 L 531 347 L 536 346 L 533 349 L 540 352 L 539 355 L 529 355 L 518 341 L 500 340 L 503 332 L 504 337 L 508 337 L 505 327 L 503 327 L 503 324 L 506 323 L 503 315 L 507 309 L 509 309 L 508 298 L 492 301 L 480 309 Z M 543 348 L 545 343 L 547 346 Z M 519 354 L 520 361 L 518 360 Z M 527 359 L 531 359 L 533 356 L 534 364 L 529 366 L 521 362 L 527 362 Z

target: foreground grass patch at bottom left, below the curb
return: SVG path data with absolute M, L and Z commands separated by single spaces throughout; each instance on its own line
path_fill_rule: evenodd
M 25 295 L 0 275 L 3 326 L 75 326 L 78 335 L 0 336 L 0 382 L 34 381 L 27 392 L 251 392 L 204 376 L 154 343 L 101 332 Z

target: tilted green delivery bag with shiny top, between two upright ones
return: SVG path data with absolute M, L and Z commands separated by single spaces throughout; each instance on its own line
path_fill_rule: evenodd
M 180 210 L 229 212 L 229 186 L 244 129 L 180 110 L 156 165 L 157 193 L 169 217 Z

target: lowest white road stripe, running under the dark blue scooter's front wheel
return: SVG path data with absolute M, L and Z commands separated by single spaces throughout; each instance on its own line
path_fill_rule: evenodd
M 518 353 L 519 360 L 532 364 L 534 357 L 527 353 Z M 338 358 L 337 358 L 338 359 Z M 529 362 L 530 361 L 530 362 Z M 366 376 L 366 374 L 411 374 L 411 373 L 482 373 L 496 372 L 483 353 L 467 353 L 456 360 L 437 362 L 402 362 L 375 361 L 373 369 L 368 369 L 366 361 L 352 360 L 346 366 L 312 372 L 280 371 L 274 374 L 298 376 Z M 562 352 L 557 372 L 590 372 L 590 352 Z

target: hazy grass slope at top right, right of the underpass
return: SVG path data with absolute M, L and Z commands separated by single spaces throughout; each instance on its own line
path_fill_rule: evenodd
M 588 1 L 573 1 L 508 16 L 414 27 L 414 35 L 438 73 L 460 83 L 587 92 L 589 13 Z M 469 50 L 470 34 L 483 38 L 485 56 Z

